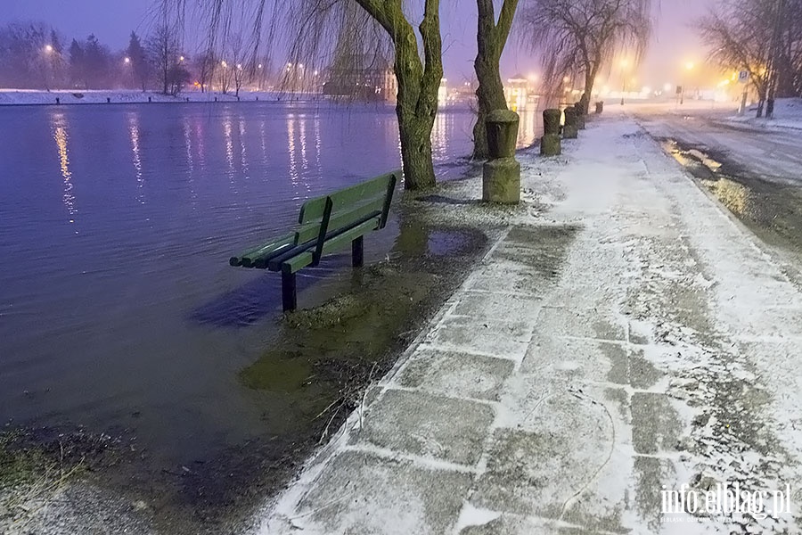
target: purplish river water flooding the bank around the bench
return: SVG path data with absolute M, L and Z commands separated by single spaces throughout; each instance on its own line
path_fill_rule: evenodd
M 522 114 L 521 145 L 537 116 Z M 461 176 L 471 121 L 438 115 L 440 178 Z M 274 340 L 280 277 L 228 258 L 284 231 L 308 197 L 399 159 L 389 107 L 0 109 L 0 422 L 133 429 L 173 465 L 291 426 L 239 375 Z M 402 223 L 366 239 L 366 261 L 398 254 Z M 300 306 L 346 265 L 301 276 Z

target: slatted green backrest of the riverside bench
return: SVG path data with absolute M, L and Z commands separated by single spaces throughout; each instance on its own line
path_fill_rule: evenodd
M 369 218 L 378 218 L 378 228 L 384 228 L 400 175 L 400 171 L 393 171 L 304 202 L 298 218 L 296 243 L 337 233 Z

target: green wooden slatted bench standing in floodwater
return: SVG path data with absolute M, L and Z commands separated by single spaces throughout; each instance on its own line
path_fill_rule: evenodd
M 351 263 L 364 264 L 364 235 L 384 228 L 401 171 L 352 185 L 301 206 L 298 226 L 229 259 L 232 266 L 282 272 L 282 308 L 297 308 L 295 274 L 317 266 L 324 254 L 351 244 Z

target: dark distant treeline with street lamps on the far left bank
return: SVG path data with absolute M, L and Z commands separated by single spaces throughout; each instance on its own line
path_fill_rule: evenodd
M 112 50 L 94 35 L 68 41 L 45 22 L 8 23 L 0 27 L 0 87 L 138 88 L 176 95 L 187 85 L 224 93 L 268 85 L 267 62 L 250 56 L 246 62 L 241 39 L 233 38 L 231 57 L 208 51 L 192 57 L 182 50 L 178 36 L 168 26 L 158 26 L 144 38 L 132 31 L 124 50 Z

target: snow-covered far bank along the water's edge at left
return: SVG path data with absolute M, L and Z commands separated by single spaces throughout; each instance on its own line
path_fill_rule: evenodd
M 277 100 L 310 100 L 318 97 L 315 94 L 282 94 L 274 91 L 240 91 L 239 96 L 233 93 L 201 93 L 186 91 L 177 96 L 162 95 L 151 91 L 143 92 L 135 89 L 116 90 L 53 90 L 38 91 L 29 89 L 0 89 L 0 106 L 3 105 L 35 105 L 35 104 L 102 104 L 102 103 L 210 103 L 210 102 L 247 102 Z M 56 100 L 58 99 L 58 101 Z M 149 100 L 150 99 L 150 100 Z

